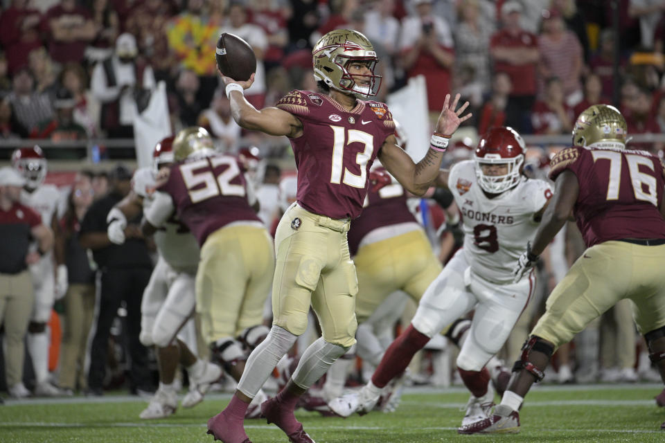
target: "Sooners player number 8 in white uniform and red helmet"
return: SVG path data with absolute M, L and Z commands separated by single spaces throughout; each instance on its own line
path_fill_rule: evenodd
M 472 394 L 462 424 L 487 416 L 494 392 L 484 366 L 504 345 L 534 286 L 532 274 L 513 283 L 511 273 L 552 195 L 547 182 L 524 177 L 523 152 L 517 132 L 492 128 L 481 138 L 474 160 L 441 170 L 437 185 L 447 186 L 461 209 L 464 246 L 429 285 L 411 325 L 389 346 L 371 381 L 360 392 L 330 402 L 336 413 L 371 410 L 382 389 L 430 338 L 475 309 L 456 361 Z

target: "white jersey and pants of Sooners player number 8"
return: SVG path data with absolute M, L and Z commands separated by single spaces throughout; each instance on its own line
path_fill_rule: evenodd
M 474 161 L 457 163 L 448 187 L 463 214 L 464 246 L 425 291 L 411 323 L 431 337 L 475 309 L 457 365 L 479 371 L 502 347 L 533 293 L 533 273 L 513 283 L 511 272 L 538 227 L 534 214 L 552 192 L 549 183 L 522 177 L 514 188 L 489 199 Z

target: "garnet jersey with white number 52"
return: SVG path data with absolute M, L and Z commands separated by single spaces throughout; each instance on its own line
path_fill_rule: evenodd
M 158 190 L 170 195 L 178 218 L 190 228 L 199 246 L 229 223 L 261 222 L 249 206 L 245 177 L 232 156 L 193 156 L 177 163 Z

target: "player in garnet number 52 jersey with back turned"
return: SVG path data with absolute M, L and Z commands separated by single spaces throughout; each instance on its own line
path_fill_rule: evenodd
M 256 346 L 269 331 L 261 323 L 275 269 L 272 239 L 252 208 L 256 196 L 238 159 L 215 152 L 205 129 L 182 129 L 173 141 L 173 156 L 175 165 L 161 171 L 165 177 L 158 179 L 145 211 L 143 233 L 154 233 L 176 215 L 196 237 L 201 334 L 213 360 L 237 381 L 247 359 L 243 347 Z M 259 391 L 247 415 L 258 417 L 266 399 Z

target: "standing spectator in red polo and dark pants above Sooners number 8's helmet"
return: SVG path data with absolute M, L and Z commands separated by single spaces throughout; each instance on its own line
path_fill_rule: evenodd
M 538 61 L 538 37 L 522 28 L 522 5 L 506 1 L 501 8 L 503 28 L 490 39 L 490 55 L 494 71 L 503 71 L 511 78 L 506 125 L 518 132 L 531 132 L 530 113 L 535 101 Z

